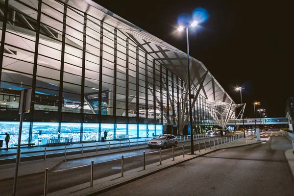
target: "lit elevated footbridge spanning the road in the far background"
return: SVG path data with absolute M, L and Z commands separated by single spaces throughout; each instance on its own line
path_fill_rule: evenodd
M 231 119 L 227 123 L 228 125 L 240 125 L 243 124 L 242 119 Z M 244 119 L 244 124 L 255 124 L 255 119 Z M 258 118 L 256 124 L 288 124 L 287 118 Z

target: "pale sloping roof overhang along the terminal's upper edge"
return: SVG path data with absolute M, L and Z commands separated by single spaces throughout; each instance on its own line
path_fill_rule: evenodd
M 43 0 L 47 4 L 54 4 L 50 0 Z M 126 35 L 129 35 L 138 46 L 156 59 L 160 64 L 169 69 L 183 81 L 187 78 L 187 54 L 170 44 L 151 35 L 147 31 L 124 20 L 120 16 L 110 12 L 92 0 L 60 0 L 73 8 L 87 13 L 88 15 L 101 20 L 108 25 L 118 28 Z M 205 74 L 207 68 L 202 62 L 190 56 L 191 60 L 191 86 L 194 87 L 200 78 Z M 197 87 L 196 87 L 197 88 Z M 200 95 L 204 98 L 230 103 L 232 98 L 224 91 L 215 77 L 208 72 Z M 234 101 L 233 101 L 234 102 Z

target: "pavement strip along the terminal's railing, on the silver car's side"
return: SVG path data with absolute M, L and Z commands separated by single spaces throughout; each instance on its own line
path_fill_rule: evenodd
M 206 137 L 206 138 L 200 138 L 200 139 L 195 139 L 194 141 L 198 140 L 204 140 L 207 138 L 214 138 L 218 136 L 213 136 L 213 137 Z M 190 140 L 185 139 L 185 141 L 182 138 L 182 141 L 179 141 L 180 143 L 184 142 L 189 142 Z M 138 149 L 145 149 L 147 148 L 147 143 L 146 146 L 135 146 L 135 147 L 124 147 L 121 150 L 119 148 L 116 149 L 110 149 L 108 150 L 108 147 L 106 150 L 98 151 L 98 152 L 87 152 L 84 154 L 74 154 L 74 155 L 67 155 L 66 157 L 64 156 L 59 156 L 59 157 L 54 157 L 54 158 L 47 158 L 46 160 L 34 160 L 34 161 L 25 161 L 20 163 L 19 167 L 19 172 L 18 172 L 18 177 L 24 177 L 28 175 L 35 175 L 38 173 L 43 173 L 45 168 L 48 168 L 49 171 L 57 167 L 59 164 L 63 163 L 64 161 L 67 160 L 74 160 L 74 159 L 81 159 L 81 158 L 88 158 L 88 157 L 93 157 L 93 156 L 100 156 L 100 155 L 107 155 L 107 154 L 113 154 L 117 152 L 127 152 L 127 151 L 133 151 L 133 150 L 138 150 Z M 6 179 L 11 179 L 14 177 L 15 173 L 15 163 L 11 164 L 5 164 L 5 165 L 0 165 L 0 181 L 6 180 Z M 4 172 L 5 171 L 5 172 Z

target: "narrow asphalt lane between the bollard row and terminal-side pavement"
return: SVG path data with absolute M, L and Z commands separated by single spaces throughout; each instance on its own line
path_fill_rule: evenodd
M 220 138 L 220 137 L 215 137 Z M 206 141 L 206 147 L 209 148 L 209 140 L 213 147 L 213 139 L 205 138 L 197 140 L 198 142 Z M 190 145 L 190 141 L 180 143 L 180 145 Z M 204 148 L 204 144 L 200 145 Z M 195 145 L 195 150 L 198 150 L 198 145 Z M 93 158 L 84 158 L 75 161 L 69 161 L 61 164 L 55 171 L 49 172 L 48 193 L 62 190 L 74 185 L 82 184 L 90 181 L 90 163 L 95 160 L 94 165 L 94 180 L 102 177 L 107 177 L 121 172 L 121 155 L 124 155 L 124 171 L 134 168 L 143 167 L 143 153 L 144 150 L 135 150 L 131 152 L 120 152 L 108 156 L 98 156 Z M 159 162 L 159 148 L 146 149 L 146 165 Z M 190 151 L 190 146 L 185 147 L 186 153 Z M 175 156 L 182 154 L 182 147 L 177 147 L 174 150 Z M 172 148 L 162 150 L 162 160 L 172 158 Z M 2 181 L 0 183 L 0 190 L 5 193 L 4 196 L 10 196 L 13 186 L 13 180 Z M 33 187 L 33 189 L 31 188 Z M 17 186 L 17 195 L 24 196 L 40 196 L 44 191 L 44 174 L 35 176 L 19 178 Z M 2 195 L 1 195 L 2 196 Z

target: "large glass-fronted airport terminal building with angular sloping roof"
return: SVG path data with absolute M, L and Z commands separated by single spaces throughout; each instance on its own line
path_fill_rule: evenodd
M 91 0 L 0 0 L 0 139 L 17 142 L 20 90 L 32 88 L 22 143 L 187 134 L 225 127 L 232 98 L 202 62 Z

